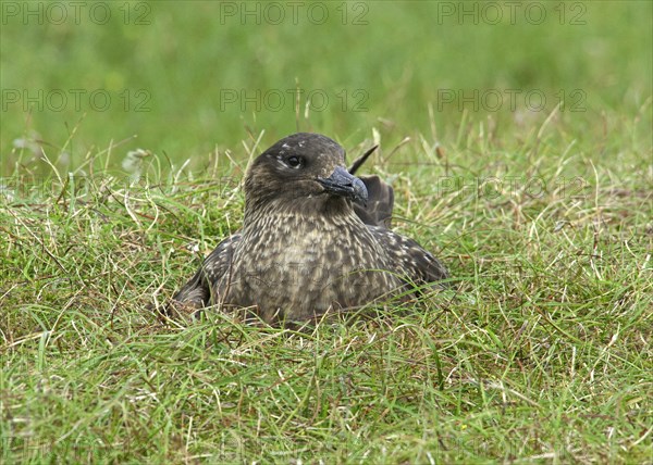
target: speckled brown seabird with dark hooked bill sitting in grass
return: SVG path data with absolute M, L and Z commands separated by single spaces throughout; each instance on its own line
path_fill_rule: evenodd
M 445 266 L 391 229 L 394 192 L 355 175 L 345 150 L 313 133 L 289 135 L 254 160 L 243 226 L 222 240 L 169 307 L 246 309 L 273 326 L 318 321 L 370 303 L 445 287 Z

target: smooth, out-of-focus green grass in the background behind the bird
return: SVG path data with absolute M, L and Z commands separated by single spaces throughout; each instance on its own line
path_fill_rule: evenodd
M 130 4 L 137 14 L 136 5 L 146 2 Z M 444 15 L 442 8 L 452 2 L 412 1 L 408 10 L 396 1 L 350 2 L 345 20 L 340 3 L 324 2 L 329 21 L 321 25 L 311 23 L 308 8 L 296 22 L 286 10 L 287 21 L 274 25 L 267 24 L 262 8 L 260 17 L 243 22 L 210 1 L 195 1 L 192 10 L 180 1 L 147 4 L 144 20 L 150 24 L 144 25 L 135 24 L 134 14 L 125 21 L 123 4 L 113 7 L 103 25 L 91 21 L 87 7 L 79 24 L 73 7 L 61 25 L 38 13 L 24 21 L 27 7 L 7 16 L 0 41 L 5 92 L 0 173 L 15 168 L 15 139 L 61 149 L 73 128 L 74 143 L 60 161 L 66 172 L 87 152 L 111 146 L 122 153 L 147 148 L 176 163 L 190 159 L 199 169 L 215 146 L 233 149 L 248 133 L 261 130 L 270 141 L 297 128 L 315 130 L 352 147 L 372 127 L 398 143 L 406 135 L 431 134 L 433 121 L 435 139 L 451 143 L 463 110 L 490 113 L 500 127 L 510 127 L 520 114 L 528 126 L 527 104 L 542 103 L 537 113 L 550 114 L 566 99 L 569 112 L 584 110 L 576 114 L 584 129 L 583 113 L 636 114 L 651 96 L 648 1 L 571 2 L 563 21 L 557 3 L 543 2 L 546 21 L 540 25 L 525 16 L 527 3 L 514 24 L 507 7 L 504 21 L 490 24 L 490 13 L 464 21 Z M 361 18 L 367 24 L 358 25 L 354 15 L 362 4 L 369 9 Z M 581 4 L 583 24 L 576 24 L 572 14 Z M 394 34 L 402 24 L 409 27 Z M 298 116 L 297 88 L 303 92 Z M 496 111 L 493 91 L 501 97 Z M 21 161 L 30 169 L 42 167 L 38 152 Z

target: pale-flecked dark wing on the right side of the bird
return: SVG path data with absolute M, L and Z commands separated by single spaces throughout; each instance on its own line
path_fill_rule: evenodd
M 448 277 L 444 265 L 415 240 L 383 227 L 368 228 L 383 247 L 393 271 L 407 284 L 424 285 Z

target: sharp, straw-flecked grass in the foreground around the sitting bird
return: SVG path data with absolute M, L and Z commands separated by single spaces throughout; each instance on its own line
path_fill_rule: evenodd
M 465 185 L 592 168 L 583 151 L 549 156 L 564 122 L 508 150 L 475 131 L 446 151 Z M 402 150 L 432 166 L 420 146 Z M 401 175 L 398 228 L 439 251 L 456 291 L 307 334 L 146 310 L 238 227 L 237 186 L 54 176 L 52 196 L 2 210 L 2 458 L 650 461 L 645 160 L 593 171 L 539 196 Z

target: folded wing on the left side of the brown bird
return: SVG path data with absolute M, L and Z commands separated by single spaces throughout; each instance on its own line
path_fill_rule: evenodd
M 172 305 L 189 309 L 202 309 L 211 304 L 211 288 L 231 267 L 234 249 L 241 241 L 241 235 L 227 237 L 207 256 L 193 278 L 172 298 Z

